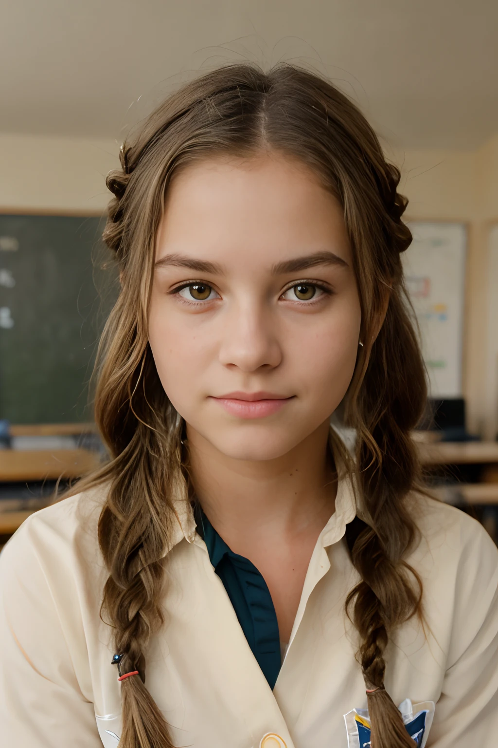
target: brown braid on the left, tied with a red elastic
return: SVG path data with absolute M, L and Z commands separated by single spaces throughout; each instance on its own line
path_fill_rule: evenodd
M 149 453 L 161 454 L 154 432 L 142 424 L 137 443 L 130 445 L 131 453 L 137 453 L 139 441 L 147 444 Z M 168 465 L 167 455 L 163 457 Z M 136 669 L 139 673 L 120 684 L 119 744 L 123 748 L 173 748 L 164 716 L 145 685 L 146 650 L 163 623 L 160 601 L 170 525 L 167 502 L 154 486 L 147 485 L 147 473 L 143 465 L 127 475 L 121 473 L 111 485 L 99 519 L 99 544 L 110 570 L 102 614 L 115 630 L 115 651 L 123 655 L 121 672 Z M 127 499 L 133 494 L 142 500 L 130 503 Z

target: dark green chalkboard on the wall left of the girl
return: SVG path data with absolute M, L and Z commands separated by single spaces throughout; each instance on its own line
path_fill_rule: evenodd
M 0 418 L 92 420 L 96 343 L 117 292 L 104 222 L 0 215 Z

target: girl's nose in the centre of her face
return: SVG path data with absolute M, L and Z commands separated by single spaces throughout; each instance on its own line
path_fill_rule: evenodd
M 278 367 L 282 352 L 271 311 L 256 301 L 227 310 L 222 320 L 219 358 L 223 366 L 244 372 Z

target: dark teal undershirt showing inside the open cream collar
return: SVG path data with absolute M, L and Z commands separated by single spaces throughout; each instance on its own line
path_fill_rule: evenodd
M 277 616 L 267 583 L 249 559 L 228 548 L 199 503 L 194 515 L 211 565 L 222 580 L 252 654 L 273 690 L 281 668 L 281 653 Z

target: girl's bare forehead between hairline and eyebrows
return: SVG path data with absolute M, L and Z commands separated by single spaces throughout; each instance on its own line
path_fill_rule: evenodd
M 171 251 L 269 263 L 328 248 L 350 260 L 343 209 L 311 168 L 278 153 L 194 162 L 169 184 L 157 259 Z

